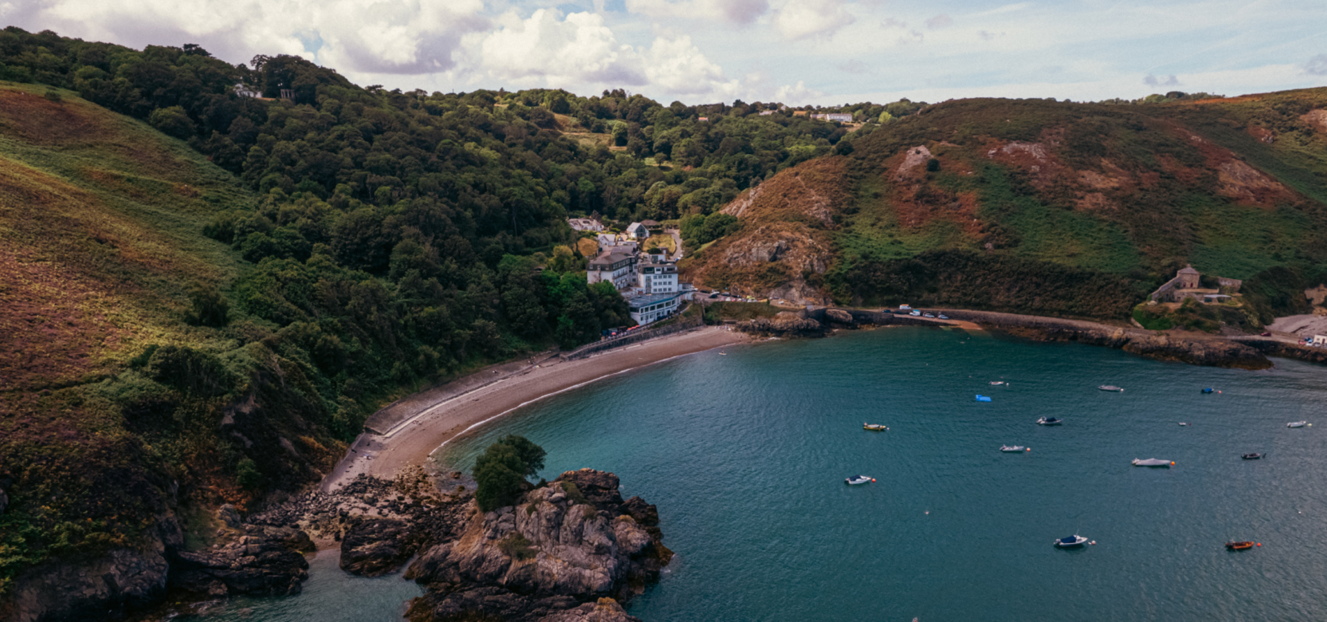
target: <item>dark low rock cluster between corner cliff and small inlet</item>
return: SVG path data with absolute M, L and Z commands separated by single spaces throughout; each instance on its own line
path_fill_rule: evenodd
M 245 534 L 212 550 L 176 553 L 170 584 L 214 597 L 299 594 L 313 550 L 309 536 L 285 527 L 244 525 Z

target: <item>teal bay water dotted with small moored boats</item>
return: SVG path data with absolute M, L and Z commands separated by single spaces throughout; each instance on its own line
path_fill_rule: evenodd
M 1327 370 L 1292 361 L 1220 370 L 890 329 L 670 361 L 438 454 L 468 469 L 522 434 L 548 450 L 541 476 L 613 471 L 658 504 L 677 558 L 632 602 L 648 622 L 1324 619 L 1324 403 Z M 1300 419 L 1318 426 L 1286 427 Z M 844 484 L 857 473 L 877 481 Z M 1071 533 L 1097 544 L 1051 546 Z

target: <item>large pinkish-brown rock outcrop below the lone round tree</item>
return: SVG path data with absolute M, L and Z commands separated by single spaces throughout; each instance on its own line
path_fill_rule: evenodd
M 644 590 L 671 552 L 661 542 L 656 508 L 640 497 L 624 501 L 617 484 L 612 473 L 569 471 L 515 507 L 475 509 L 459 537 L 430 548 L 407 570 L 429 588 L 407 617 L 634 619 L 613 598 Z M 608 601 L 583 607 L 601 598 Z

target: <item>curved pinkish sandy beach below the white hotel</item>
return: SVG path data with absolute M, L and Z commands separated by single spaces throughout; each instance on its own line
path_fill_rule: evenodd
M 415 399 L 411 403 L 415 412 L 403 416 L 401 423 L 384 434 L 361 434 L 336 469 L 322 480 L 322 491 L 334 491 L 360 473 L 394 477 L 406 467 L 423 464 L 434 450 L 456 435 L 541 398 L 670 358 L 748 341 L 750 337 L 743 333 L 707 326 L 577 361 L 552 358 L 524 365 L 474 390 L 459 394 L 439 391 L 443 398 L 434 403 Z M 480 374 L 498 371 L 484 370 Z M 475 378 L 456 383 L 476 385 Z

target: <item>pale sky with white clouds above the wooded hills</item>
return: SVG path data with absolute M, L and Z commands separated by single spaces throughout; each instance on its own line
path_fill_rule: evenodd
M 1324 0 L 0 0 L 0 23 L 232 64 L 300 54 L 389 89 L 664 103 L 1327 85 Z

